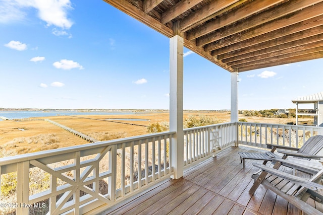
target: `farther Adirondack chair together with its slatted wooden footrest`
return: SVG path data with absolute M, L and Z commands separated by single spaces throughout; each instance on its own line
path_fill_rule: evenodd
M 292 150 L 296 151 L 295 153 L 290 151 L 283 151 L 278 150 L 277 152 L 283 153 L 283 159 L 287 158 L 287 156 L 294 156 L 306 160 L 310 159 L 320 159 L 319 157 L 315 156 L 321 149 L 323 149 L 323 135 L 315 135 L 308 138 L 303 146 L 299 149 L 286 147 L 286 146 L 279 146 L 279 145 L 270 145 L 267 144 L 268 148 L 272 148 L 271 152 L 266 153 L 247 153 L 247 152 L 239 152 L 240 161 L 243 162 L 244 168 L 244 160 L 245 159 L 252 159 L 252 160 L 263 160 L 263 164 L 266 164 L 267 161 L 272 161 L 272 158 L 279 158 L 277 154 L 274 154 L 276 149 L 283 149 L 283 150 Z

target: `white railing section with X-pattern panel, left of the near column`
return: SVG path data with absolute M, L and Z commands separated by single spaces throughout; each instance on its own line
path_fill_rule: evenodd
M 172 174 L 175 132 L 97 142 L 0 159 L 0 213 L 95 214 Z M 16 180 L 8 175 L 16 175 Z M 16 183 L 16 187 L 15 187 Z M 4 196 L 6 185 L 16 199 Z M 37 213 L 38 214 L 38 213 Z

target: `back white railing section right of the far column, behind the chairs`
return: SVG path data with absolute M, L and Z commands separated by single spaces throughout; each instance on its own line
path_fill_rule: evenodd
M 323 127 L 238 122 L 238 142 L 267 148 L 266 144 L 300 148 L 310 136 L 323 135 Z

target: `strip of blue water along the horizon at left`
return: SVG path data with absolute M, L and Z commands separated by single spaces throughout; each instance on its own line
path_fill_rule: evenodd
M 100 112 L 100 111 L 0 111 L 0 116 L 9 119 L 57 116 L 57 115 L 129 115 L 134 112 Z M 1 119 L 0 119 L 1 120 Z

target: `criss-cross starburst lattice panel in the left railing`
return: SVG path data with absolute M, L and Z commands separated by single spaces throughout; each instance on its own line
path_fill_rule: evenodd
M 110 204 L 115 196 L 112 149 L 106 146 L 30 160 L 29 199 L 25 201 L 48 205 L 50 214 L 83 214 Z M 44 180 L 32 181 L 36 174 Z

